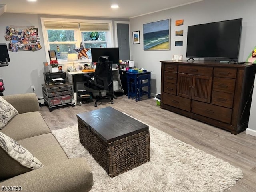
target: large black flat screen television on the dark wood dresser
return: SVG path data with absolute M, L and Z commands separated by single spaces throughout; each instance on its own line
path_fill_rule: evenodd
M 237 59 L 242 18 L 188 26 L 188 58 Z

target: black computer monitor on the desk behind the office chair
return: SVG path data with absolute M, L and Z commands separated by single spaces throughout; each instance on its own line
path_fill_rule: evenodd
M 113 64 L 119 63 L 119 48 L 108 47 L 108 48 L 91 48 L 92 62 L 98 62 L 99 57 L 108 56 L 108 60 L 112 61 Z

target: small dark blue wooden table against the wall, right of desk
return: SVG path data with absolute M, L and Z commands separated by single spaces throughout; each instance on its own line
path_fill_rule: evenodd
M 140 101 L 140 97 L 143 95 L 148 95 L 150 99 L 150 80 L 151 80 L 151 71 L 140 72 L 140 73 L 130 73 L 127 74 L 127 96 L 135 97 L 136 101 Z M 143 87 L 148 87 L 148 90 L 143 90 Z

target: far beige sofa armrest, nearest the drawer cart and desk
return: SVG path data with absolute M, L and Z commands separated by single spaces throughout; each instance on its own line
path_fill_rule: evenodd
M 6 95 L 2 96 L 2 98 L 8 101 L 19 114 L 40 111 L 38 99 L 34 93 Z

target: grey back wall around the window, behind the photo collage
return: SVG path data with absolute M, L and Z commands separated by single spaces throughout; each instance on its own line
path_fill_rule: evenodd
M 113 20 L 128 21 L 127 19 L 113 18 L 92 18 L 92 17 L 72 17 L 72 16 L 52 16 L 38 14 L 11 14 L 4 13 L 0 15 L 0 43 L 10 43 L 4 38 L 5 29 L 8 25 L 13 26 L 35 26 L 38 28 L 41 50 L 38 51 L 18 51 L 10 52 L 10 63 L 7 67 L 0 67 L 0 77 L 4 80 L 4 95 L 30 93 L 31 85 L 35 86 L 35 93 L 38 98 L 42 98 L 41 84 L 44 83 L 44 66 L 46 62 L 46 53 L 44 50 L 44 38 L 42 36 L 41 17 L 71 18 L 71 19 L 92 19 L 92 20 Z M 114 26 L 113 26 L 114 31 Z M 113 34 L 115 37 L 115 34 Z M 115 39 L 114 39 L 115 41 Z M 47 55 L 48 57 L 48 55 Z

